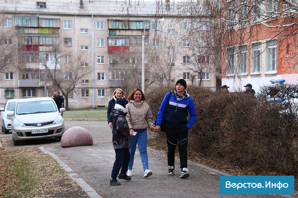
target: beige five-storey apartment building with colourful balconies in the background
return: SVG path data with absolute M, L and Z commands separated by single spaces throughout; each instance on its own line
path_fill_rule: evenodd
M 122 81 L 129 81 L 129 75 L 134 75 L 124 65 L 136 65 L 133 71 L 140 72 L 140 61 L 128 56 L 134 49 L 140 57 L 142 34 L 146 88 L 175 83 L 179 78 L 216 88 L 211 58 L 191 56 L 187 20 L 178 20 L 170 7 L 162 8 L 156 17 L 154 2 L 141 2 L 129 16 L 122 11 L 123 6 L 116 1 L 80 0 L 1 3 L 1 29 L 15 32 L 7 42 L 16 45 L 17 52 L 12 53 L 13 63 L 0 72 L 0 106 L 8 99 L 52 96 L 59 89 L 51 80 L 56 78 L 63 90 L 68 85 L 75 86 L 68 94 L 69 108 L 106 107 L 115 88 L 128 93 L 131 87 L 140 87 L 140 80 L 131 83 L 131 87 Z M 159 22 L 161 18 L 165 20 Z M 206 68 L 208 65 L 208 70 L 198 72 L 192 59 Z M 69 83 L 78 70 L 88 72 L 76 83 Z

